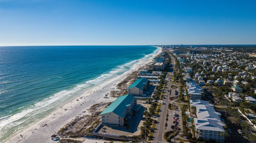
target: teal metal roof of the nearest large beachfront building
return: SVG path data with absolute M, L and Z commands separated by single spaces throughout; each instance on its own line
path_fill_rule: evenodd
M 113 112 L 116 115 L 124 118 L 122 113 L 130 105 L 133 99 L 136 99 L 136 98 L 130 94 L 120 96 L 112 104 L 110 104 L 108 108 L 106 108 L 103 112 L 101 112 L 100 115 Z

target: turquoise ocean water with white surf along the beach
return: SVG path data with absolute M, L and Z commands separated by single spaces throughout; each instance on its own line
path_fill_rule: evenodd
M 121 75 L 152 46 L 0 47 L 0 142 L 69 96 Z

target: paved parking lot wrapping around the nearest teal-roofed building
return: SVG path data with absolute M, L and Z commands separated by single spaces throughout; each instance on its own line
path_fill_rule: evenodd
M 145 106 L 145 107 L 143 107 Z M 127 124 L 130 124 L 129 130 L 126 130 L 126 127 L 123 126 L 105 126 L 101 125 L 96 132 L 104 133 L 104 134 L 114 134 L 114 135 L 139 135 L 140 134 L 140 126 L 142 126 L 145 119 L 142 119 L 144 109 L 147 108 L 147 104 L 142 104 L 139 111 L 135 112 L 135 116 L 131 116 L 131 120 L 128 120 Z

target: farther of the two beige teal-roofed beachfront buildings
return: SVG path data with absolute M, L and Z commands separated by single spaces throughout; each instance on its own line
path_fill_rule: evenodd
M 132 96 L 145 96 L 147 91 L 143 92 L 143 90 L 147 88 L 148 84 L 149 80 L 146 78 L 137 79 L 127 88 L 127 92 Z

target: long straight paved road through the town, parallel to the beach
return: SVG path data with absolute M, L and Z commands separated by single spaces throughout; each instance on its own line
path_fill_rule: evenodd
M 172 63 L 174 64 L 174 63 Z M 172 71 L 172 70 L 171 70 Z M 168 72 L 167 73 L 168 75 L 168 78 L 170 77 L 171 78 L 171 75 L 173 75 L 172 72 Z M 168 109 L 168 103 L 173 103 L 173 101 L 170 101 L 168 98 L 169 97 L 174 97 L 174 89 L 171 88 L 171 86 L 173 85 L 171 82 L 170 82 L 170 79 L 166 78 L 165 80 L 167 81 L 167 85 L 166 85 L 166 90 L 165 90 L 165 93 L 164 93 L 164 99 L 163 99 L 163 102 L 164 104 L 162 104 L 161 106 L 161 110 L 159 112 L 159 116 L 157 118 L 157 124 L 156 124 L 156 129 L 155 129 L 155 133 L 154 133 L 154 136 L 153 136 L 153 140 L 154 142 L 165 142 L 165 140 L 163 139 L 163 133 L 164 132 L 167 132 L 167 131 L 170 131 L 170 126 L 173 125 L 173 112 L 171 112 L 169 110 L 169 120 L 167 121 L 167 128 L 166 130 L 164 129 L 165 127 L 165 118 L 166 118 L 166 113 L 167 113 L 167 109 Z M 172 89 L 172 92 L 171 92 L 171 95 L 170 95 L 170 92 L 168 90 Z M 170 96 L 169 96 L 170 95 Z M 162 101 L 160 101 L 162 102 Z M 177 110 L 177 113 L 178 113 L 178 110 Z M 180 115 L 180 118 L 181 118 L 181 110 L 179 108 L 179 115 Z M 172 119 L 172 120 L 170 120 Z M 180 123 L 182 122 L 182 119 L 179 119 L 180 120 Z M 182 125 L 180 126 L 180 128 L 182 129 Z

